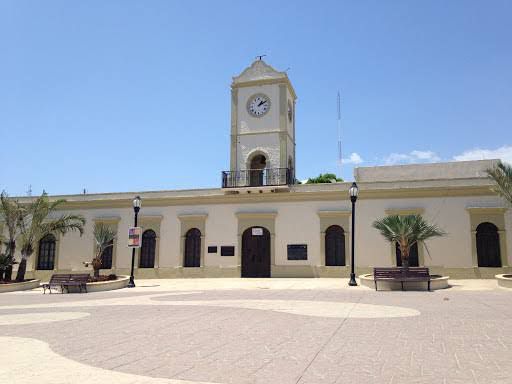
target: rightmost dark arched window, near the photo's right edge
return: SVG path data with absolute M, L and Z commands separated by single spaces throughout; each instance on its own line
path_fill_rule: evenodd
M 479 267 L 501 267 L 500 235 L 494 224 L 476 227 L 476 255 Z

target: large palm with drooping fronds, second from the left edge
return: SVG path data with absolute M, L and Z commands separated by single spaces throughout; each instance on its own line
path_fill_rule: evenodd
M 39 241 L 51 233 L 65 235 L 68 232 L 84 233 L 85 219 L 81 215 L 62 214 L 56 217 L 56 211 L 65 200 L 50 201 L 46 192 L 28 204 L 17 202 L 18 228 L 20 231 L 21 262 L 16 281 L 25 280 L 27 259 L 34 253 Z

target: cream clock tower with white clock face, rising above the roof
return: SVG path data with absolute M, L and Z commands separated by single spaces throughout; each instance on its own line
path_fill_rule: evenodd
M 286 72 L 259 59 L 231 84 L 231 162 L 223 187 L 295 180 L 295 101 Z

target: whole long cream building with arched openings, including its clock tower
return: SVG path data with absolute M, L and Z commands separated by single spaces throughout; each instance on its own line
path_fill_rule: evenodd
M 356 225 L 351 183 L 295 183 L 295 91 L 261 60 L 233 78 L 231 161 L 222 187 L 58 196 L 82 214 L 85 234 L 40 243 L 28 274 L 90 271 L 95 223 L 117 230 L 104 274 L 128 274 L 132 199 L 142 198 L 136 277 L 347 277 L 355 230 L 357 273 L 397 264 L 396 249 L 372 228 L 390 214 L 420 213 L 447 235 L 417 249 L 417 263 L 455 278 L 512 272 L 512 214 L 491 190 L 495 160 L 361 167 Z M 57 198 L 57 196 L 55 196 Z M 0 223 L 1 227 L 1 223 Z

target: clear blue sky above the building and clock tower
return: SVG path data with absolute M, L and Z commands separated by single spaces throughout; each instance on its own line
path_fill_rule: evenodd
M 0 1 L 0 189 L 218 187 L 231 77 L 256 55 L 298 94 L 299 179 L 512 162 L 510 1 Z

